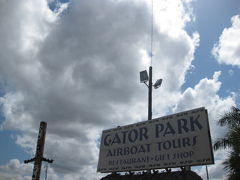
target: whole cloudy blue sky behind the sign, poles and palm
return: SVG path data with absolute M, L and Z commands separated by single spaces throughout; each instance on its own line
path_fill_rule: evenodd
M 151 64 L 150 0 L 0 0 L 0 179 L 31 179 L 48 123 L 49 180 L 99 180 L 104 129 L 147 120 L 139 72 Z M 153 118 L 197 107 L 218 118 L 240 102 L 240 1 L 153 0 Z M 226 179 L 225 151 L 212 180 Z M 43 169 L 46 164 L 43 164 Z M 42 179 L 44 171 L 42 169 Z M 194 168 L 203 179 L 205 166 Z

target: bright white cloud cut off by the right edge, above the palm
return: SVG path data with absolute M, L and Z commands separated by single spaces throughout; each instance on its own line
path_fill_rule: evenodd
M 231 22 L 232 26 L 223 30 L 212 53 L 220 64 L 240 67 L 240 16 L 233 16 Z

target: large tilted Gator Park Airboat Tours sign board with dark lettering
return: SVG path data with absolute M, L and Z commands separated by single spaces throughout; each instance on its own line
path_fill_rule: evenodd
M 104 130 L 98 172 L 213 164 L 205 108 Z

